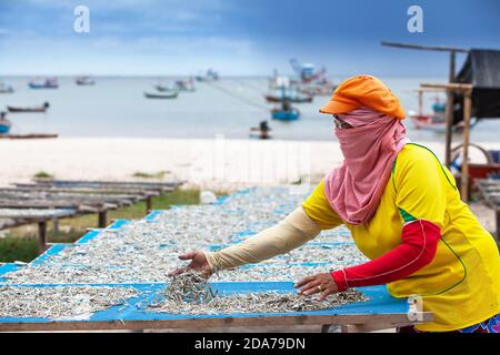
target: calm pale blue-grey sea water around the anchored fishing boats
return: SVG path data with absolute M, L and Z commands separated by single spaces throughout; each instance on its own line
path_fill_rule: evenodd
M 329 97 L 314 97 L 311 103 L 297 103 L 300 120 L 271 120 L 273 104 L 267 103 L 269 78 L 221 78 L 213 82 L 196 82 L 194 92 L 180 92 L 177 99 L 147 99 L 156 84 L 171 84 L 186 78 L 96 77 L 94 85 L 77 85 L 74 78 L 59 78 L 58 89 L 30 89 L 32 78 L 0 78 L 14 88 L 0 93 L 0 111 L 7 105 L 37 106 L 49 102 L 46 113 L 8 113 L 11 133 L 59 133 L 61 138 L 182 138 L 248 139 L 249 130 L 268 120 L 277 140 L 334 140 L 331 115 L 319 113 Z M 337 84 L 346 78 L 332 78 Z M 418 110 L 414 89 L 423 82 L 446 82 L 446 78 L 381 78 L 400 98 L 407 112 Z M 423 95 L 424 112 L 442 93 Z M 444 141 L 443 133 L 418 130 L 404 121 L 413 141 Z M 499 141 L 500 121 L 480 121 L 472 130 L 474 142 Z

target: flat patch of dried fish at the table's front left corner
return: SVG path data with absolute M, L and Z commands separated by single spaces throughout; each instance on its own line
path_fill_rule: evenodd
M 4 286 L 0 288 L 0 317 L 86 320 L 137 294 L 131 287 Z

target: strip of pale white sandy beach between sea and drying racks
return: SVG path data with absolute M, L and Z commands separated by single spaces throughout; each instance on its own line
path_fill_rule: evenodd
M 416 142 L 418 143 L 418 142 Z M 443 160 L 442 143 L 426 143 Z M 500 149 L 500 143 L 481 143 Z M 57 179 L 137 180 L 137 172 L 167 171 L 189 185 L 227 189 L 239 185 L 316 182 L 342 161 L 338 142 L 216 139 L 62 138 L 0 140 L 0 185 L 28 182 L 44 171 Z M 477 150 L 472 161 L 483 162 Z M 232 189 L 231 189 L 232 190 Z

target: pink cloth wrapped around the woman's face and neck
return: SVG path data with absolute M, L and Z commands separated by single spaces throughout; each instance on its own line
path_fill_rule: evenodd
M 362 224 L 376 213 L 396 156 L 409 139 L 400 120 L 370 108 L 337 116 L 352 128 L 336 130 L 344 160 L 324 179 L 324 193 L 343 221 Z

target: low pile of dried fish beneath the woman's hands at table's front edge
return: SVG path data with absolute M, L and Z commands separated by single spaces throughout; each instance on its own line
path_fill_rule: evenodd
M 203 303 L 183 301 L 161 302 L 149 311 L 172 314 L 237 314 L 237 313 L 288 313 L 333 308 L 368 298 L 358 291 L 341 292 L 319 301 L 317 295 L 299 296 L 291 293 L 263 292 L 216 296 Z

